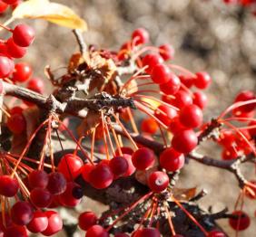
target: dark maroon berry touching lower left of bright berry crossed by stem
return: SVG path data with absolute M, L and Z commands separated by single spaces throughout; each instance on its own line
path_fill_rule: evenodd
M 62 194 L 66 189 L 66 180 L 64 175 L 59 172 L 53 172 L 49 175 L 47 189 L 51 194 Z

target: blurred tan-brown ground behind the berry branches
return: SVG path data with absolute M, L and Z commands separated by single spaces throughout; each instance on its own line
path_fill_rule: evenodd
M 82 16 L 89 27 L 84 33 L 88 44 L 107 49 L 119 47 L 131 37 L 137 27 L 146 28 L 154 45 L 172 43 L 173 63 L 190 71 L 209 71 L 212 87 L 206 91 L 209 106 L 205 119 L 216 117 L 233 101 L 240 90 L 256 90 L 256 17 L 249 9 L 225 5 L 222 0 L 63 0 Z M 31 62 L 36 76 L 44 76 L 44 66 L 65 66 L 78 50 L 70 30 L 31 21 L 36 30 L 34 45 L 25 60 Z M 213 146 L 213 148 L 212 148 Z M 205 146 L 203 153 L 218 158 L 214 145 Z M 254 174 L 244 167 L 248 179 Z M 255 175 L 254 175 L 255 176 Z M 204 208 L 212 205 L 213 212 L 228 206 L 231 210 L 239 194 L 234 177 L 218 169 L 198 164 L 186 166 L 179 187 L 198 186 L 209 194 L 201 201 Z M 255 201 L 246 200 L 251 215 L 251 228 L 240 236 L 255 236 Z M 86 206 L 84 208 L 88 208 Z M 220 222 L 234 236 L 228 221 Z M 78 234 L 79 236 L 79 234 Z

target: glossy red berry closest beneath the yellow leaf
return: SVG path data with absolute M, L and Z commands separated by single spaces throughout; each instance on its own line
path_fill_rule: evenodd
M 34 29 L 27 24 L 18 24 L 13 31 L 13 39 L 20 47 L 28 47 L 34 41 Z

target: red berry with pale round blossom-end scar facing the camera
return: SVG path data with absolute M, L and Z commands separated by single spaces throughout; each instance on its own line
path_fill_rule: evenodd
M 162 171 L 155 171 L 149 176 L 148 185 L 153 192 L 161 193 L 169 185 L 169 177 Z

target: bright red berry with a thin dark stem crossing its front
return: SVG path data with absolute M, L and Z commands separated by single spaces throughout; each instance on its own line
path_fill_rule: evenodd
M 58 164 L 58 171 L 62 173 L 67 181 L 74 180 L 82 172 L 83 160 L 74 154 L 66 154 Z

